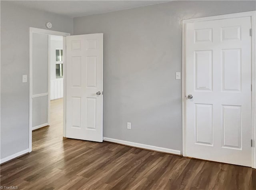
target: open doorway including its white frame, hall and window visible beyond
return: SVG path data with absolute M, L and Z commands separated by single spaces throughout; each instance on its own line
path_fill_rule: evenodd
M 29 152 L 32 137 L 33 142 L 42 141 L 42 130 L 50 138 L 65 137 L 64 65 L 66 36 L 69 35 L 30 28 Z M 41 135 L 38 135 L 39 129 Z

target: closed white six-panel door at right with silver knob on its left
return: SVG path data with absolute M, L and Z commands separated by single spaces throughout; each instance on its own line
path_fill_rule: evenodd
M 250 17 L 186 24 L 186 156 L 251 166 Z

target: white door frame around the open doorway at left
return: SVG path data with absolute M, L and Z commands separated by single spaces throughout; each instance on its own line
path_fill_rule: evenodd
M 37 34 L 47 34 L 63 36 L 63 137 L 66 137 L 66 36 L 70 36 L 70 33 L 58 32 L 53 30 L 45 30 L 40 28 L 29 28 L 29 152 L 32 151 L 32 63 L 33 63 L 33 33 Z M 49 40 L 48 40 L 49 42 Z M 48 44 L 48 53 L 49 53 Z M 50 59 L 48 57 L 48 93 L 43 93 L 41 95 L 48 95 L 48 123 L 50 125 Z M 41 96 L 40 95 L 40 96 Z M 38 96 L 37 96 L 38 97 Z

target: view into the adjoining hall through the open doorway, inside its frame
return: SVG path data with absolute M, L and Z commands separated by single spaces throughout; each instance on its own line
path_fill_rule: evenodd
M 33 82 L 41 87 L 32 86 L 32 143 L 35 143 L 42 140 L 42 133 L 47 137 L 61 137 L 63 133 L 63 36 L 34 33 L 32 37 Z M 42 80 L 49 79 L 48 76 L 50 81 Z

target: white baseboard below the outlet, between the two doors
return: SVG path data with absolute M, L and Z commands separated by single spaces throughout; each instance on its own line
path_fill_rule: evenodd
M 134 146 L 137 148 L 145 148 L 148 150 L 156 150 L 156 151 L 160 151 L 160 152 L 167 152 L 167 153 L 171 153 L 171 154 L 180 154 L 180 150 L 173 150 L 173 149 L 169 149 L 169 148 L 162 148 L 162 147 L 158 147 L 158 146 L 151 146 L 151 145 L 147 145 L 147 144 L 140 144 L 140 143 L 132 143 L 129 141 L 122 141 L 122 140 L 118 140 L 118 139 L 111 139 L 108 137 L 103 137 L 104 141 L 108 141 L 108 142 L 112 142 L 112 143 L 119 143 L 119 144 L 125 144 L 128 146 Z

